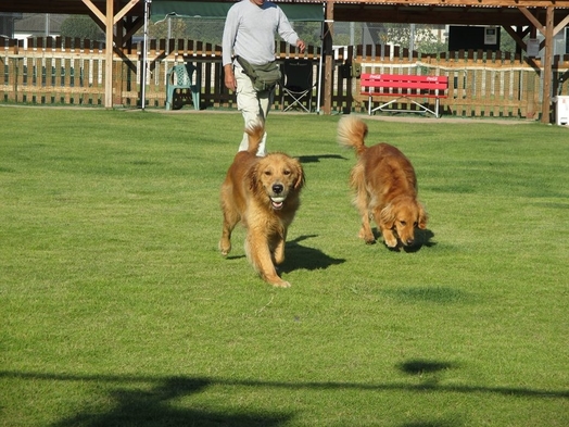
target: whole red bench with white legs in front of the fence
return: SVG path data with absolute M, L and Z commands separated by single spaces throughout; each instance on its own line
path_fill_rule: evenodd
M 414 76 L 403 74 L 362 74 L 362 95 L 368 96 L 368 114 L 375 111 L 397 111 L 413 113 L 431 113 L 439 117 L 439 100 L 447 97 L 448 77 L 446 76 Z M 371 109 L 374 97 L 390 97 L 391 101 Z M 421 110 L 392 110 L 392 103 L 402 98 L 407 98 Z M 413 98 L 433 98 L 434 110 L 426 106 Z

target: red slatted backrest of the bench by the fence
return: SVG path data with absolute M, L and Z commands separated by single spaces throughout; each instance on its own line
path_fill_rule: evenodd
M 405 74 L 362 74 L 362 93 L 388 93 L 388 89 L 410 89 L 412 91 L 435 91 L 448 88 L 446 76 L 415 76 Z

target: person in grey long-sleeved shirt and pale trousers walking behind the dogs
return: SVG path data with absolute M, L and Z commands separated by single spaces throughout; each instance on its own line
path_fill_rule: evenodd
M 275 87 L 268 90 L 255 89 L 239 59 L 245 60 L 252 66 L 274 62 L 277 33 L 284 41 L 304 52 L 304 41 L 277 4 L 265 0 L 241 0 L 227 13 L 222 42 L 224 83 L 229 90 L 237 93 L 237 109 L 243 115 L 245 127 L 251 127 L 260 120 L 266 121 Z M 257 155 L 265 155 L 266 138 L 265 133 Z M 239 151 L 246 148 L 248 136 L 243 134 Z

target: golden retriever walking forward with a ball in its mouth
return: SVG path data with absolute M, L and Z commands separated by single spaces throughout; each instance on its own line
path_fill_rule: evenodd
M 236 154 L 222 186 L 224 225 L 219 250 L 231 250 L 231 231 L 241 221 L 246 229 L 245 253 L 255 271 L 273 286 L 288 288 L 275 268 L 284 261 L 287 230 L 300 205 L 304 171 L 284 153 L 255 155 L 263 124 L 245 129 L 249 149 Z

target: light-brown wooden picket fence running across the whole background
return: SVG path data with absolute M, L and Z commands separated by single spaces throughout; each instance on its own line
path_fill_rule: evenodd
M 140 105 L 141 48 L 141 43 L 134 45 L 114 56 L 114 105 Z M 152 40 L 148 51 L 144 90 L 148 108 L 164 108 L 167 71 L 174 63 L 186 61 L 195 63 L 200 70 L 202 109 L 235 108 L 235 93 L 224 86 L 218 46 L 192 40 Z M 319 48 L 308 47 L 300 54 L 284 42 L 277 43 L 279 61 L 290 58 L 312 61 L 315 81 L 323 72 L 319 56 Z M 349 72 L 351 63 L 359 64 L 362 72 L 448 76 L 448 98 L 441 101 L 443 115 L 536 120 L 541 112 L 543 66 L 539 60 L 483 51 L 419 55 L 389 46 L 357 46 L 334 52 L 332 111 L 367 111 L 367 99 L 359 95 L 359 80 Z M 21 40 L 0 38 L 0 102 L 3 103 L 103 105 L 104 72 L 105 51 L 100 43 L 34 38 L 24 47 Z M 569 55 L 555 56 L 554 97 L 569 95 L 569 85 L 565 84 L 568 75 Z M 313 110 L 323 103 L 321 90 L 324 84 L 314 91 Z M 279 89 L 275 108 L 282 108 Z

